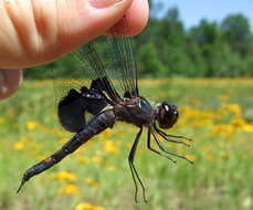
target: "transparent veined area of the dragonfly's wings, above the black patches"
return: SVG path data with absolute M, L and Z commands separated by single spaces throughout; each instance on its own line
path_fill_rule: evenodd
M 71 88 L 89 87 L 93 80 L 105 78 L 104 86 L 110 88 L 113 99 L 138 96 L 137 67 L 126 18 L 110 29 L 112 36 L 101 36 L 73 51 L 68 56 L 70 69 L 54 70 L 56 101 L 61 101 Z M 68 75 L 70 74 L 70 75 Z M 67 80 L 66 80 L 67 77 Z M 70 78 L 71 77 L 71 78 Z

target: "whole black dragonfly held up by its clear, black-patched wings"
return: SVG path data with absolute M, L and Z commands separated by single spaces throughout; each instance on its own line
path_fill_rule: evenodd
M 29 168 L 17 192 L 32 177 L 59 164 L 94 136 L 107 128 L 113 128 L 117 122 L 128 123 L 139 128 L 128 156 L 136 202 L 138 202 L 139 187 L 143 191 L 143 199 L 147 202 L 145 186 L 134 165 L 144 128 L 147 128 L 147 148 L 149 150 L 172 162 L 176 162 L 172 158 L 175 156 L 192 164 L 186 156 L 167 150 L 160 140 L 162 138 L 168 143 L 190 146 L 191 139 L 162 130 L 171 128 L 177 123 L 179 112 L 175 105 L 169 102 L 154 103 L 140 95 L 133 38 L 123 34 L 127 30 L 128 23 L 124 17 L 109 30 L 112 35 L 102 36 L 102 40 L 97 39 L 72 52 L 80 67 L 70 71 L 75 71 L 77 77 L 68 83 L 55 80 L 54 86 L 55 95 L 60 98 L 57 103 L 59 120 L 65 130 L 75 134 L 53 155 Z M 87 80 L 89 86 L 84 84 L 84 81 Z M 92 117 L 87 118 L 86 114 Z M 158 149 L 151 146 L 152 141 Z

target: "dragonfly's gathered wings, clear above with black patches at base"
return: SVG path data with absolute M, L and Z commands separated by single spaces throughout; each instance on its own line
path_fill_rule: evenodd
M 123 18 L 110 29 L 112 36 L 101 36 L 76 49 L 68 55 L 72 65 L 53 72 L 59 119 L 65 129 L 82 129 L 87 120 L 85 112 L 97 114 L 124 96 L 138 96 L 131 39 L 123 35 L 127 31 L 127 21 Z M 84 96 L 82 90 L 95 90 L 105 97 L 91 98 Z M 95 107 L 94 111 L 91 107 Z

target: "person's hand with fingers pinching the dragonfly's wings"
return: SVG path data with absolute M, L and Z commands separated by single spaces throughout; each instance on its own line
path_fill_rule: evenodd
M 147 24 L 147 0 L 0 0 L 0 99 L 22 69 L 55 61 L 105 33 L 126 14 L 129 32 Z

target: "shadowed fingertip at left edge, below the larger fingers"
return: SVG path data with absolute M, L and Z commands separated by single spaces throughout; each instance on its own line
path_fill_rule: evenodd
M 21 70 L 0 70 L 0 99 L 12 95 L 22 82 Z

